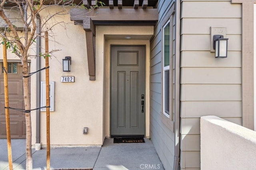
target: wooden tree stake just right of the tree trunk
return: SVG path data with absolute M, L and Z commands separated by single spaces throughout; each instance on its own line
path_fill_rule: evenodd
M 47 145 L 47 151 L 46 151 L 46 169 L 50 170 L 50 88 L 49 88 L 49 57 L 48 57 L 48 32 L 45 31 L 45 76 L 46 76 L 46 145 Z

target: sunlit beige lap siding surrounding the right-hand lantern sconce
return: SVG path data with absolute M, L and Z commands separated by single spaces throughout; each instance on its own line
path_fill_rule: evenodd
M 230 1 L 182 1 L 180 166 L 184 170 L 200 169 L 201 116 L 242 124 L 241 9 Z M 210 27 L 226 27 L 228 58 L 215 59 L 210 52 Z

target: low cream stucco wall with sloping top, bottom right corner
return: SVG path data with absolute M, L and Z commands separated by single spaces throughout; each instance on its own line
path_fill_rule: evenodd
M 202 170 L 252 170 L 256 132 L 216 116 L 200 119 Z

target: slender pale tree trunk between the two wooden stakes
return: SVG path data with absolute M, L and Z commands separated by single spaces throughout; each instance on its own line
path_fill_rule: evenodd
M 23 76 L 28 76 L 28 59 L 26 55 L 22 56 L 22 73 Z M 23 89 L 24 89 L 24 104 L 25 110 L 30 110 L 30 96 L 29 96 L 29 78 L 23 77 Z M 31 132 L 31 115 L 30 111 L 25 113 L 26 117 L 26 170 L 32 170 L 32 132 Z

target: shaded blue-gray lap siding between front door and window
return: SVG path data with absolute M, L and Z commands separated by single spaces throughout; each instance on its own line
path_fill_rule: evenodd
M 173 2 L 159 0 L 158 23 L 150 42 L 150 137 L 166 170 L 174 164 L 174 133 L 162 122 L 162 20 Z M 170 16 L 169 16 L 170 17 Z

